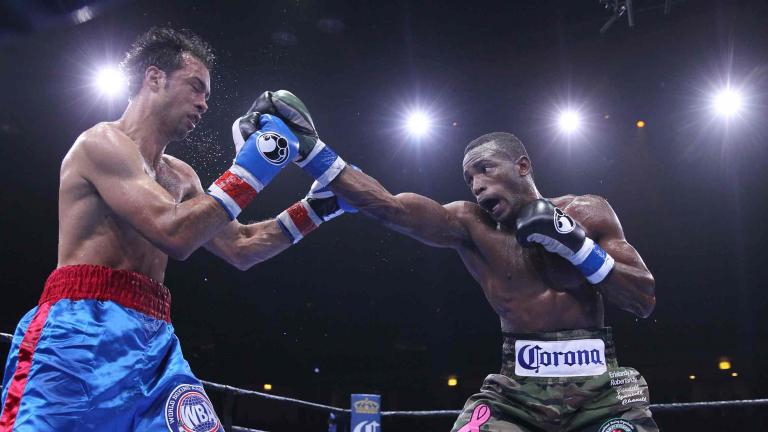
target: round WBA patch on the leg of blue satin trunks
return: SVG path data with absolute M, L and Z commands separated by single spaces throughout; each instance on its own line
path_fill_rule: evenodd
M 165 424 L 171 432 L 214 432 L 221 428 L 203 387 L 190 384 L 177 386 L 168 396 Z

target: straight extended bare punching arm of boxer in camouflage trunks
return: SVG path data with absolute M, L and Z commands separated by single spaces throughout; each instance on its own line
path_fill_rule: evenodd
M 361 212 L 430 246 L 457 248 L 470 240 L 462 203 L 443 206 L 414 193 L 392 195 L 373 177 L 349 167 L 329 186 Z

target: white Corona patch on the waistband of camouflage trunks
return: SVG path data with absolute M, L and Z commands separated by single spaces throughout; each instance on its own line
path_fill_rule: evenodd
M 607 371 L 602 339 L 515 341 L 515 375 L 571 377 Z

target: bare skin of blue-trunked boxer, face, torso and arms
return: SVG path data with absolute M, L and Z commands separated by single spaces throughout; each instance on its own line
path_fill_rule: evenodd
M 168 256 L 200 246 L 243 270 L 290 246 L 274 219 L 230 222 L 195 171 L 164 154 L 199 122 L 209 89 L 208 69 L 190 55 L 170 75 L 150 66 L 119 120 L 78 137 L 61 166 L 58 267 L 97 264 L 163 282 Z

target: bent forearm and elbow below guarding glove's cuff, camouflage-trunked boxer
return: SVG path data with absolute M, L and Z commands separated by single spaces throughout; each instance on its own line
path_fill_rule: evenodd
M 648 318 L 656 306 L 656 283 L 645 269 L 616 262 L 596 287 L 609 304 L 641 318 Z

